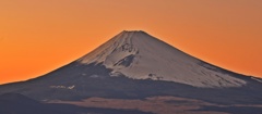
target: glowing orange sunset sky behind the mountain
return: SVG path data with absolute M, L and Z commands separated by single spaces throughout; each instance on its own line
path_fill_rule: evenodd
M 0 0 L 0 84 L 56 69 L 123 29 L 262 77 L 261 0 Z

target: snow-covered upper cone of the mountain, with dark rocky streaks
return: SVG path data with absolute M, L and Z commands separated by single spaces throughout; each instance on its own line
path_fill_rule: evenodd
M 194 87 L 241 87 L 246 81 L 206 68 L 201 60 L 150 36 L 144 31 L 122 31 L 79 60 L 81 64 L 103 63 L 111 76 L 175 81 Z M 209 66 L 211 67 L 211 66 Z

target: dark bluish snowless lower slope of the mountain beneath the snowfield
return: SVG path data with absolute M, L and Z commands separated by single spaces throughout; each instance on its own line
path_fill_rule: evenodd
M 111 77 L 110 71 L 100 64 L 74 62 L 36 79 L 0 86 L 0 93 L 19 92 L 41 101 L 175 96 L 221 104 L 262 104 L 261 84 L 250 77 L 245 77 L 248 84 L 241 88 L 195 88 L 171 81 Z

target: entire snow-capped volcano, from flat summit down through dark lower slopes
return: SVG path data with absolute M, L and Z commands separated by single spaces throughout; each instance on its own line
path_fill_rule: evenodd
M 45 103 L 139 109 L 156 114 L 180 112 L 181 109 L 167 109 L 175 104 L 184 107 L 193 104 L 189 110 L 182 109 L 187 114 L 261 113 L 261 78 L 209 64 L 141 30 L 124 30 L 91 53 L 44 76 L 0 86 L 0 94 L 21 93 Z M 164 103 L 163 112 L 148 105 L 152 110 L 144 105 L 122 107 L 131 101 L 146 102 L 145 105 Z M 119 106 L 116 102 L 123 104 Z

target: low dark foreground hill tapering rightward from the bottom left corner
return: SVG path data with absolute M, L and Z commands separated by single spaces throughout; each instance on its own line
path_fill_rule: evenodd
M 0 94 L 0 114 L 152 114 L 135 110 L 81 107 L 41 103 L 19 93 Z

